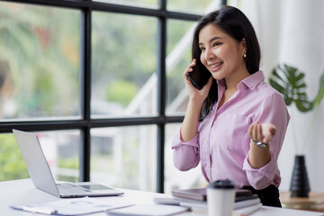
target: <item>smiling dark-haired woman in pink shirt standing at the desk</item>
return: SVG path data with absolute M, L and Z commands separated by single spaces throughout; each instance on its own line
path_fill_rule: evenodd
M 184 71 L 189 102 L 172 143 L 175 166 L 186 171 L 201 162 L 208 182 L 230 179 L 264 205 L 281 207 L 277 157 L 290 116 L 259 70 L 252 24 L 237 8 L 224 6 L 202 17 L 192 49 L 193 62 Z M 193 69 L 211 73 L 202 90 L 186 76 Z

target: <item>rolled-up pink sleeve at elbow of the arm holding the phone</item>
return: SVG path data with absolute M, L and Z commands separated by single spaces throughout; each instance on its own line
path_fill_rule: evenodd
M 197 132 L 193 139 L 184 142 L 181 138 L 180 130 L 175 134 L 171 148 L 173 149 L 174 165 L 177 169 L 187 171 L 199 164 L 198 136 L 199 133 Z

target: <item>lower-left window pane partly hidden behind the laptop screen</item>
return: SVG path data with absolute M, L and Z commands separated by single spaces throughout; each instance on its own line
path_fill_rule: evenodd
M 79 181 L 79 130 L 35 132 L 55 180 Z M 0 134 L 0 181 L 28 178 L 13 134 Z

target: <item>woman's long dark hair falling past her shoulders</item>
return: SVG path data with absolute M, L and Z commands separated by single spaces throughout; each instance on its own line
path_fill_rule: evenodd
M 199 70 L 207 70 L 202 65 L 200 59 L 201 49 L 199 49 L 199 32 L 208 24 L 213 24 L 220 28 L 222 31 L 229 34 L 230 37 L 240 42 L 245 39 L 247 45 L 247 58 L 246 61 L 247 71 L 254 74 L 259 70 L 261 51 L 257 41 L 256 31 L 252 24 L 238 8 L 232 6 L 222 6 L 220 10 L 211 12 L 202 17 L 198 22 L 193 33 L 193 47 L 192 58 L 196 59 L 196 67 Z M 243 58 L 243 57 L 242 57 Z M 207 70 L 208 73 L 210 73 Z M 201 121 L 211 111 L 211 107 L 218 100 L 218 85 L 215 79 L 212 80 L 211 89 L 209 94 L 202 104 Z

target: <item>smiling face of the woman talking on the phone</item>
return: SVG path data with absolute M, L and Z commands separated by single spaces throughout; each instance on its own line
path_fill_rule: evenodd
M 215 79 L 226 79 L 247 72 L 243 59 L 245 40 L 238 43 L 220 28 L 208 24 L 199 32 L 199 48 L 202 51 L 202 64 Z

